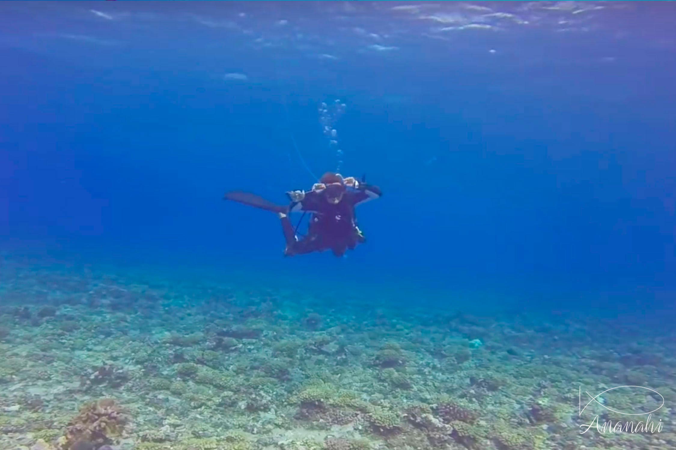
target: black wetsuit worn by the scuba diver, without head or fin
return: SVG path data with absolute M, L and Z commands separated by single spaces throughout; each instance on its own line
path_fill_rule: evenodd
M 364 242 L 364 236 L 357 227 L 354 207 L 380 196 L 379 188 L 363 184 L 358 190 L 348 188 L 337 204 L 329 203 L 322 192 L 307 192 L 303 200 L 289 205 L 289 211 L 312 213 L 308 234 L 298 240 L 291 221 L 284 217 L 282 230 L 287 242 L 285 255 L 331 250 L 335 256 L 343 256 L 347 249 L 352 250 Z

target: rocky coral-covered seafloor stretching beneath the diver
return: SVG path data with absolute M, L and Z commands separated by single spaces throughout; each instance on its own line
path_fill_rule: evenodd
M 669 329 L 28 266 L 0 299 L 0 449 L 676 448 Z

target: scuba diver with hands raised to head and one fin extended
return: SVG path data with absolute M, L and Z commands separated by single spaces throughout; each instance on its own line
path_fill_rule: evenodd
M 276 213 L 281 219 L 286 241 L 285 256 L 331 250 L 335 256 L 354 250 L 364 242 L 364 234 L 357 226 L 354 208 L 382 195 L 377 186 L 358 181 L 354 177 L 343 178 L 339 173 L 327 172 L 312 190 L 287 192 L 291 203 L 278 206 L 247 192 L 228 192 L 225 200 L 234 200 Z M 308 233 L 299 239 L 289 219 L 290 213 L 310 213 Z

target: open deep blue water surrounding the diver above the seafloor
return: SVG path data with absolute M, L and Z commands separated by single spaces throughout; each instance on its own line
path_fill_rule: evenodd
M 404 35 L 397 51 L 336 33 L 314 50 L 339 52 L 327 60 L 293 33 L 270 37 L 273 19 L 295 16 L 317 36 L 339 29 L 317 4 L 249 5 L 247 34 L 143 16 L 230 18 L 243 5 L 110 3 L 0 5 L 9 254 L 489 290 L 525 307 L 674 304 L 676 36 L 660 26 L 675 8 L 633 11 L 631 27 L 604 16 L 582 34 Z M 282 44 L 251 47 L 257 34 Z M 309 189 L 292 136 L 316 174 L 335 169 L 317 113 L 333 99 L 347 104 L 343 174 L 385 195 L 360 206 L 368 243 L 348 258 L 283 258 L 276 218 L 220 198 Z

